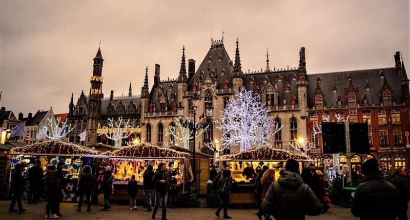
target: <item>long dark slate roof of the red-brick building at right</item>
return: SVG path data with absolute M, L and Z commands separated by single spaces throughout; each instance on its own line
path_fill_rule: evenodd
M 380 78 L 379 76 L 380 71 L 383 71 L 384 76 L 387 78 L 387 82 L 390 86 L 393 86 L 400 81 L 400 77 L 396 73 L 394 67 L 371 70 L 308 74 L 308 108 L 313 107 L 313 95 L 316 89 L 318 76 L 321 78 L 319 85 L 321 90 L 323 91 L 324 97 L 326 98 L 326 107 L 331 107 L 332 104 L 333 106 L 337 106 L 336 99 L 338 96 L 340 96 L 340 98 L 342 99 L 342 106 L 347 105 L 345 88 L 349 87 L 348 75 L 351 76 L 353 86 L 355 88 L 358 87 L 358 104 L 363 104 L 361 99 L 363 95 L 366 94 L 366 96 L 369 98 L 369 105 L 373 103 L 375 105 L 380 105 L 380 90 L 382 89 L 384 82 L 384 78 Z M 335 86 L 337 87 L 337 92 L 332 91 L 333 83 L 335 83 Z M 370 86 L 369 91 L 366 91 L 365 89 L 366 84 L 369 84 Z M 396 103 L 403 100 L 400 89 L 393 91 L 392 98 L 392 102 Z

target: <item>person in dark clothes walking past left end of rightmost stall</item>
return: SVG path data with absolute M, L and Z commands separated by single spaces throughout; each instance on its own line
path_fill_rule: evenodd
M 222 203 L 216 210 L 215 215 L 217 217 L 220 217 L 219 213 L 221 212 L 222 208 L 224 208 L 224 219 L 231 219 L 232 217 L 228 216 L 229 195 L 230 189 L 232 188 L 231 171 L 229 169 L 224 169 L 222 171 L 222 176 L 218 181 Z

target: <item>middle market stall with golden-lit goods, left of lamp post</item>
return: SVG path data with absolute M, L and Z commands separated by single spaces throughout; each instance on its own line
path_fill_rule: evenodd
M 103 159 L 99 166 L 98 180 L 102 180 L 102 175 L 105 166 L 111 166 L 111 171 L 114 175 L 114 193 L 111 196 L 112 200 L 128 201 L 127 184 L 131 176 L 135 176 L 138 182 L 137 200 L 143 200 L 143 173 L 148 165 L 152 165 L 154 171 L 160 163 L 164 163 L 168 167 L 171 195 L 168 195 L 170 200 L 178 193 L 184 193 L 185 182 L 192 179 L 192 174 L 185 172 L 189 170 L 190 155 L 184 152 L 178 152 L 171 148 L 154 146 L 148 143 L 141 143 L 133 146 L 123 147 L 114 151 L 107 151 L 101 154 L 108 158 Z M 188 175 L 187 175 L 188 174 Z M 187 178 L 189 176 L 189 178 Z M 101 188 L 101 183 L 99 185 Z

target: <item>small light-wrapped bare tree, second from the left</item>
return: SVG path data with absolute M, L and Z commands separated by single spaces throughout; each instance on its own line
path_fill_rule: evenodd
M 118 120 L 114 120 L 114 118 L 108 118 L 108 127 L 102 126 L 101 133 L 98 135 L 104 135 L 114 141 L 114 147 L 115 148 L 120 148 L 120 141 L 128 138 L 132 133 L 127 132 L 125 133 L 124 130 L 126 128 L 131 128 L 131 125 L 129 125 L 130 119 L 128 118 L 127 120 L 123 120 L 123 117 L 119 117 Z

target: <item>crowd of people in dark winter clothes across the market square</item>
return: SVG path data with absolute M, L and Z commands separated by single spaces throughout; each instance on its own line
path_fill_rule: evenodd
M 63 163 L 48 165 L 46 173 L 43 175 L 40 164 L 29 169 L 29 203 L 40 202 L 41 188 L 43 186 L 44 196 L 47 198 L 45 207 L 45 218 L 58 219 L 60 213 L 60 202 L 62 200 L 62 175 Z M 279 173 L 279 178 L 275 180 L 276 171 L 264 165 L 257 167 L 256 171 L 247 166 L 243 175 L 254 180 L 255 195 L 258 201 L 258 212 L 255 213 L 259 220 L 270 220 L 271 216 L 276 220 L 303 220 L 305 215 L 316 216 L 325 213 L 329 209 L 328 196 L 325 192 L 327 184 L 323 173 L 316 170 L 313 164 L 302 169 L 300 173 L 299 162 L 289 159 L 284 169 Z M 212 171 L 214 170 L 214 171 Z M 24 190 L 24 178 L 21 174 L 22 166 L 17 164 L 12 175 L 11 191 L 12 200 L 9 212 L 23 213 L 26 211 L 22 207 L 21 198 Z M 389 183 L 383 179 L 379 172 L 379 164 L 376 159 L 369 159 L 362 165 L 362 173 L 365 176 L 363 183 L 358 185 L 352 199 L 351 213 L 360 217 L 361 220 L 407 220 L 408 202 L 410 199 L 409 179 L 406 171 L 399 168 L 395 171 L 394 177 Z M 212 189 L 221 198 L 221 204 L 215 211 L 217 217 L 223 210 L 223 218 L 231 219 L 228 216 L 229 196 L 232 188 L 232 174 L 229 168 L 211 168 Z M 162 206 L 161 219 L 166 220 L 166 205 L 168 190 L 170 189 L 169 170 L 164 163 L 158 165 L 154 172 L 152 165 L 148 165 L 143 173 L 143 190 L 146 211 L 152 211 L 152 219 L 156 218 L 157 211 Z M 36 187 L 34 187 L 36 186 Z M 94 186 L 94 176 L 89 165 L 82 167 L 82 174 L 78 183 L 78 194 L 80 201 L 75 211 L 81 212 L 83 198 L 87 202 L 87 211 L 91 211 L 91 195 Z M 102 192 L 104 196 L 104 207 L 107 211 L 111 208 L 110 196 L 113 187 L 113 174 L 111 167 L 106 166 L 102 179 Z M 152 208 L 153 194 L 156 194 L 155 206 Z M 138 184 L 135 177 L 128 182 L 127 192 L 130 198 L 130 210 L 135 210 Z M 18 209 L 15 209 L 15 205 Z

